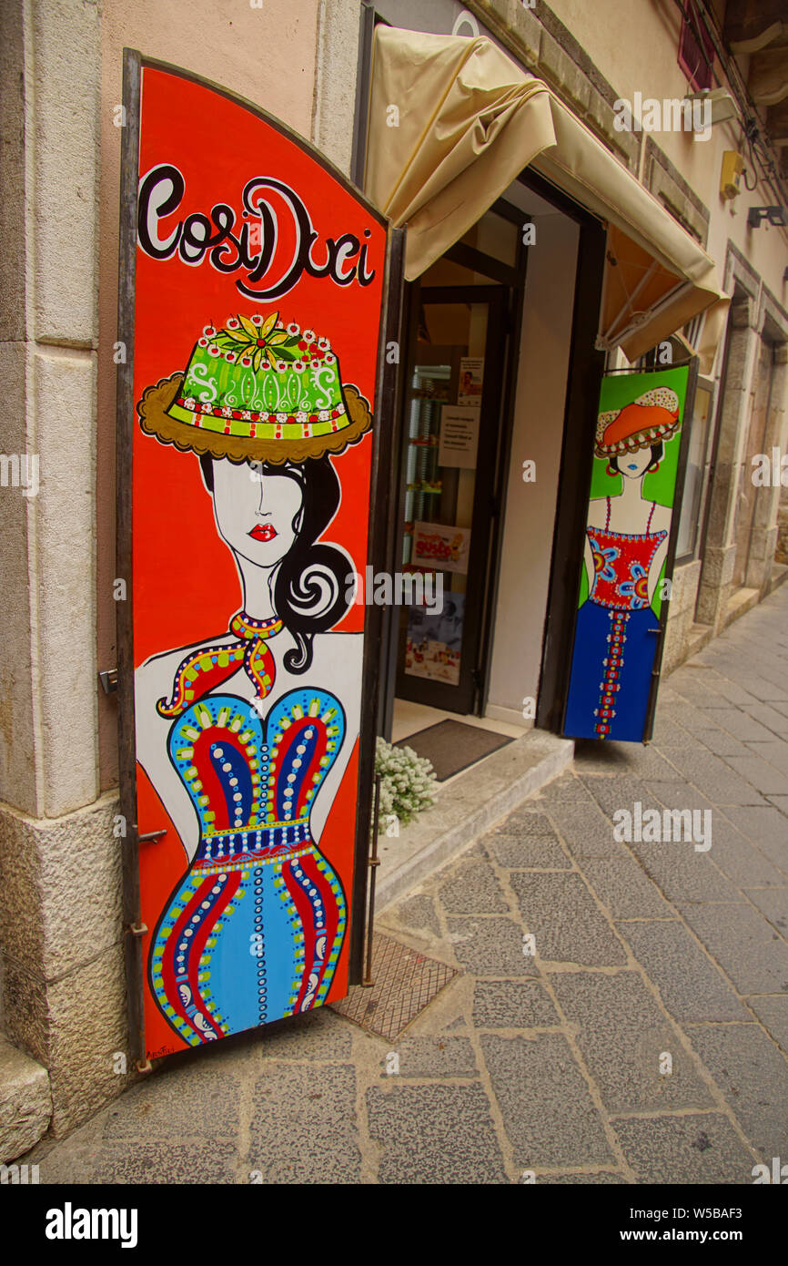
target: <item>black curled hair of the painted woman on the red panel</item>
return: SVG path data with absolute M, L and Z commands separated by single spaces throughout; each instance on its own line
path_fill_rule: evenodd
M 210 453 L 200 457 L 202 477 L 211 492 L 214 460 Z M 349 609 L 345 600 L 349 570 L 347 556 L 334 546 L 315 543 L 339 506 L 339 477 L 328 453 L 324 457 L 310 457 L 299 466 L 273 466 L 271 462 L 252 465 L 262 467 L 263 475 L 285 475 L 295 480 L 304 492 L 304 501 L 296 515 L 296 519 L 302 517 L 301 527 L 290 552 L 277 567 L 273 586 L 276 613 L 296 643 L 285 655 L 285 667 L 288 672 L 301 674 L 311 666 L 315 633 L 333 628 Z M 326 591 L 328 604 L 320 601 L 321 598 L 325 599 Z

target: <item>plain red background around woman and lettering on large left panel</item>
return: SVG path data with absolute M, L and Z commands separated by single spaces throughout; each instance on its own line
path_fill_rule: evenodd
M 317 233 L 314 261 L 326 258 L 325 241 L 352 233 L 367 243 L 367 286 L 353 280 L 340 286 L 330 277 L 302 272 L 295 286 L 274 300 L 255 301 L 239 292 L 237 280 L 248 270 L 218 271 L 204 256 L 199 265 L 177 252 L 156 260 L 138 244 L 134 316 L 134 400 L 159 379 L 183 371 L 202 327 L 224 325 L 238 313 L 252 316 L 280 313 L 285 324 L 296 322 L 330 341 L 345 384 L 353 384 L 373 405 L 378 334 L 383 300 L 386 228 L 350 189 L 305 152 L 291 135 L 249 113 L 200 82 L 144 67 L 140 104 L 139 175 L 159 163 L 172 163 L 185 180 L 180 205 L 158 227 L 167 239 L 187 215 L 210 216 L 224 203 L 235 211 L 234 233 L 242 219 L 242 192 L 254 177 L 285 181 L 305 204 Z M 282 272 L 292 257 L 295 232 L 280 195 L 269 199 L 277 214 L 277 248 L 268 277 Z M 366 234 L 364 230 L 368 230 Z M 254 253 L 254 252 L 253 252 Z M 358 257 L 357 257 L 358 260 Z M 357 260 L 347 260 L 348 272 Z M 257 284 L 261 289 L 264 284 Z M 331 458 L 342 482 L 342 503 L 321 536 L 345 549 L 357 571 L 367 562 L 367 524 L 372 436 Z M 197 457 L 181 453 L 134 427 L 133 448 L 133 622 L 134 665 L 152 655 L 221 637 L 242 605 L 242 589 L 233 556 L 216 533 L 211 498 L 200 475 Z M 336 625 L 363 630 L 364 608 L 354 605 Z M 324 685 L 330 689 L 331 682 Z M 336 868 L 348 899 L 353 889 L 353 853 L 358 744 L 345 771 L 321 836 L 321 852 Z M 145 962 L 145 1047 L 149 1057 L 186 1048 L 153 1001 L 147 981 L 151 933 L 187 861 L 167 813 L 138 766 L 139 833 L 167 828 L 157 842 L 140 844 L 142 920 L 149 932 L 143 943 Z M 329 993 L 347 993 L 348 937 Z

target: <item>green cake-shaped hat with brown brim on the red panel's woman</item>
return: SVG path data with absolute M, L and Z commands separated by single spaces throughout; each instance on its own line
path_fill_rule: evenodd
M 186 372 L 147 387 L 137 411 L 162 443 L 274 465 L 339 453 L 372 425 L 328 338 L 278 311 L 205 325 Z

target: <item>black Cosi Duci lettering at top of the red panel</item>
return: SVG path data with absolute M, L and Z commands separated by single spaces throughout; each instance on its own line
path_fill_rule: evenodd
M 254 176 L 247 181 L 240 222 L 231 206 L 216 203 L 210 215 L 191 211 L 175 227 L 164 228 L 161 222 L 178 210 L 185 192 L 183 175 L 172 163 L 158 163 L 139 182 L 139 246 L 153 260 L 177 254 L 183 263 L 195 266 L 207 257 L 219 272 L 242 271 L 244 276 L 237 277 L 235 285 L 249 299 L 278 299 L 292 290 L 305 272 L 328 277 L 338 286 L 354 281 L 368 286 L 374 279 L 374 268 L 369 268 L 367 261 L 368 243 L 354 233 L 326 237 L 321 242 L 299 195 L 273 176 Z M 266 197 L 269 192 L 278 194 L 290 230 L 295 233 L 293 254 L 285 262 L 277 256 L 280 222 Z M 369 233 L 364 229 L 364 237 Z

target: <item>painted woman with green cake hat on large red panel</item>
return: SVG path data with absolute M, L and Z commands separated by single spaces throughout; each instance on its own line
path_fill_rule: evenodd
M 363 637 L 328 632 L 354 566 L 319 538 L 340 501 L 331 458 L 372 415 L 328 339 L 276 311 L 206 325 L 137 408 L 143 432 L 197 454 L 243 591 L 228 633 L 135 674 L 138 760 L 187 857 L 148 975 L 199 1046 L 321 1005 L 342 951 L 345 894 L 319 841 L 358 734 Z

